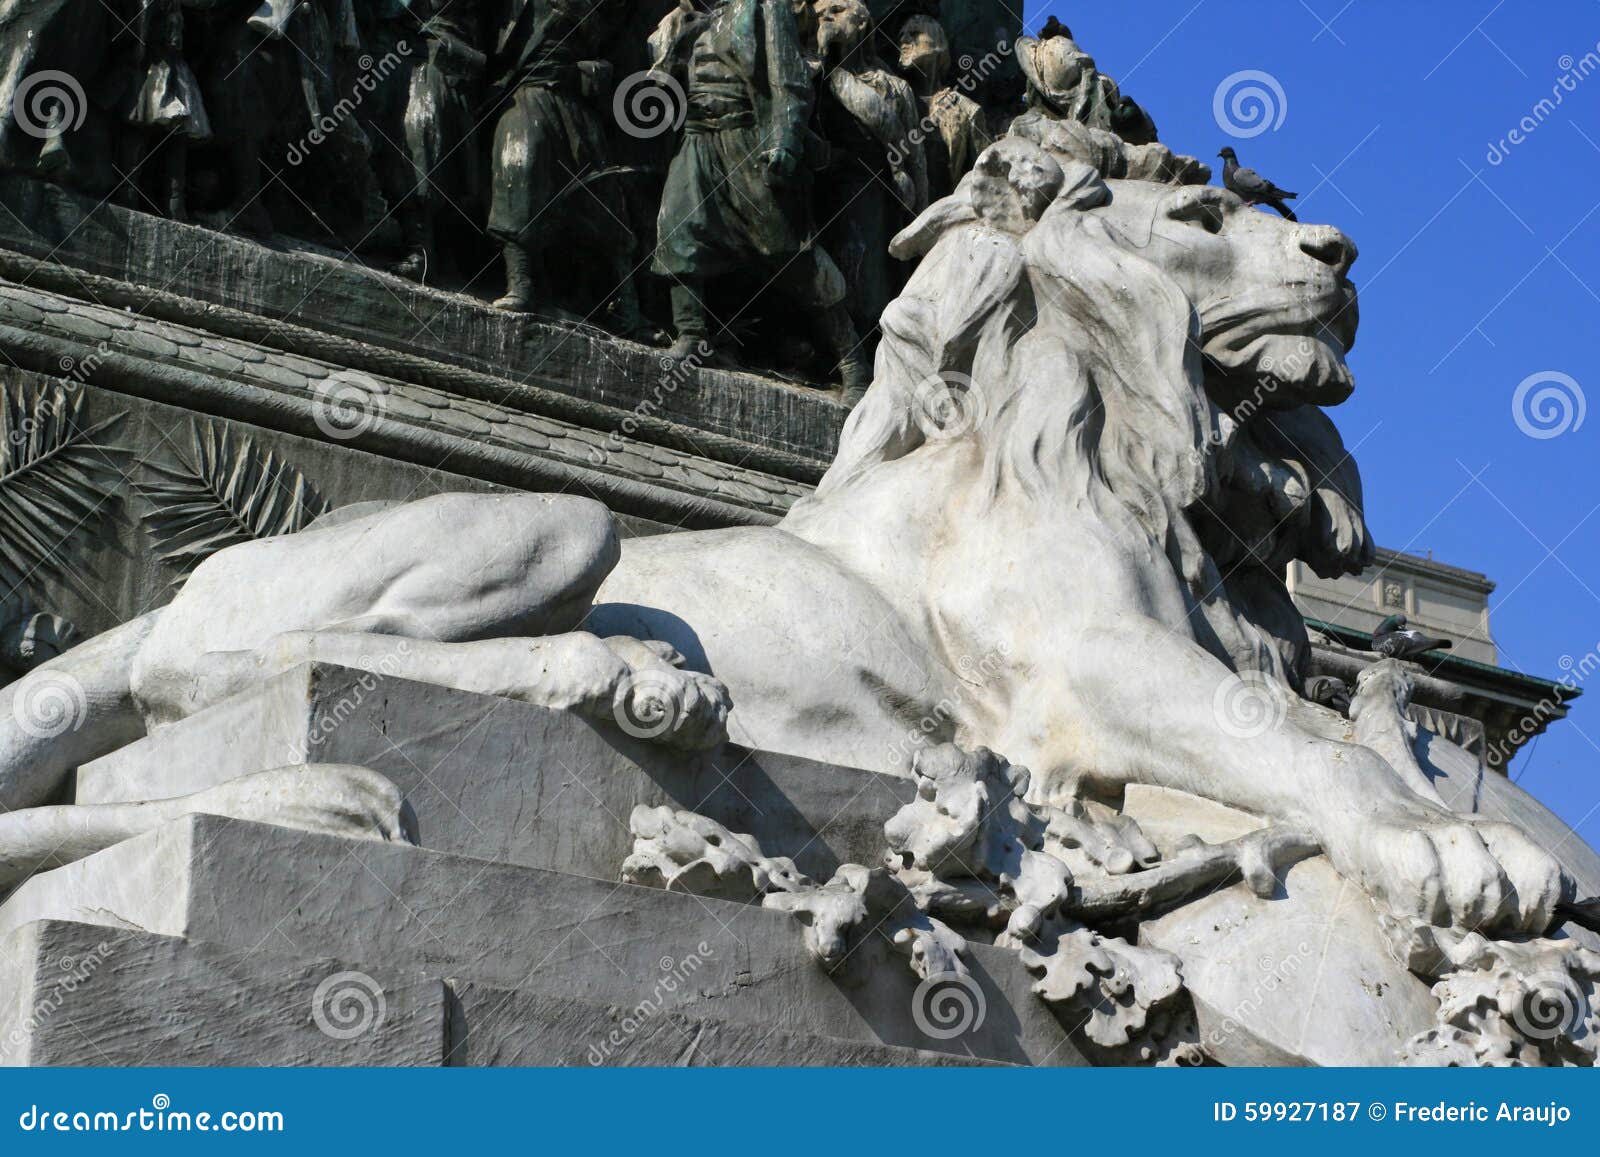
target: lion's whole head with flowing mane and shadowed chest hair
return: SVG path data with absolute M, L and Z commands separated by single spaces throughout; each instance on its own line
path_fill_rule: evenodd
M 986 501 L 1131 514 L 1197 607 L 1251 603 L 1234 610 L 1266 626 L 1262 642 L 1213 624 L 1235 635 L 1213 650 L 1293 667 L 1285 563 L 1371 558 L 1358 475 L 1320 410 L 1354 387 L 1349 238 L 1008 138 L 896 250 L 925 256 L 819 499 L 930 442 L 976 443 Z

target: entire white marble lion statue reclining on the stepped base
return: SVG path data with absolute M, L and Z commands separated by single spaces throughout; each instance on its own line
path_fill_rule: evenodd
M 779 525 L 619 544 L 571 496 L 336 512 L 6 687 L 0 885 L 186 807 L 42 808 L 69 768 L 320 659 L 643 712 L 685 747 L 909 775 L 920 746 L 984 746 L 1042 799 L 1152 784 L 1306 831 L 1397 917 L 1549 928 L 1571 890 L 1550 853 L 1296 690 L 1283 563 L 1371 558 L 1322 413 L 1352 389 L 1354 245 L 1042 146 L 1000 141 L 896 238 L 920 262 L 874 384 Z M 29 725 L 67 691 L 72 727 Z M 336 795 L 323 826 L 395 831 L 381 789 Z

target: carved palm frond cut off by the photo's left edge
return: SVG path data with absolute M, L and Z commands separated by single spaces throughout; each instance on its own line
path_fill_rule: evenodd
M 91 426 L 83 395 L 61 386 L 0 394 L 0 595 L 72 583 L 69 541 L 94 534 L 115 509 L 128 451 L 98 438 L 122 414 Z

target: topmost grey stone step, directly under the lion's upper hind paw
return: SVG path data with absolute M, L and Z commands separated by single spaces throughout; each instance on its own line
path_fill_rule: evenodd
M 357 763 L 394 779 L 421 843 L 616 879 L 629 813 L 670 803 L 827 879 L 877 864 L 910 781 L 728 747 L 685 755 L 512 699 L 304 666 L 78 770 L 77 802 L 187 795 L 286 763 Z

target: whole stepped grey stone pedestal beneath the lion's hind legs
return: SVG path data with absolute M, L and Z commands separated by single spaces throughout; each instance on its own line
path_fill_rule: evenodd
M 0 904 L 21 962 L 5 987 L 34 994 L 13 1021 L 46 992 L 51 954 L 106 941 L 115 967 L 72 1002 L 94 1024 L 122 1016 L 117 1064 L 1082 1063 L 1014 952 L 973 947 L 981 1024 L 936 1039 L 882 931 L 829 971 L 787 914 L 616 882 L 638 803 L 714 816 L 816 877 L 878 863 L 907 781 L 682 755 L 509 699 L 307 666 L 80 768 L 77 797 L 184 795 L 294 762 L 390 776 L 422 847 L 190 816 L 37 875 Z M 322 1031 L 330 976 L 381 997 L 382 1035 Z M 32 1019 L 13 1063 L 94 1059 L 66 1016 Z

